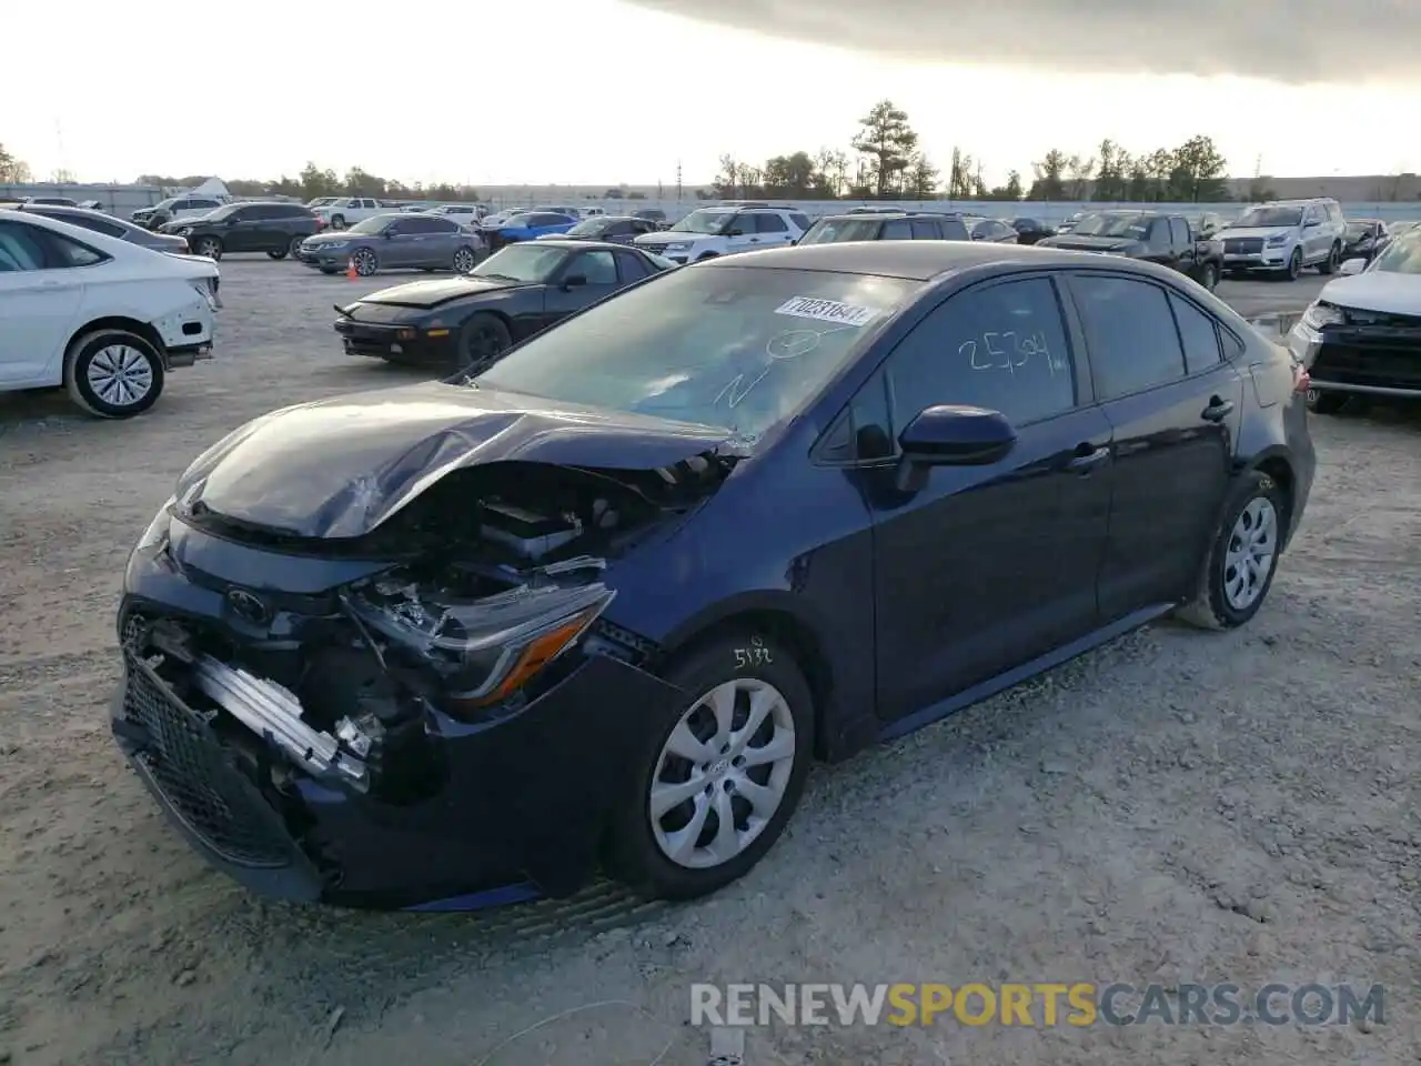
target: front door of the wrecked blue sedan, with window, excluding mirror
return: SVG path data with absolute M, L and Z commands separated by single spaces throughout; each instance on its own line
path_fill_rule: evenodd
M 949 297 L 884 365 L 891 443 L 919 411 L 968 404 L 1017 429 L 990 466 L 939 466 L 874 513 L 878 708 L 901 718 L 1096 628 L 1110 513 L 1110 425 L 1077 388 L 1049 274 Z

